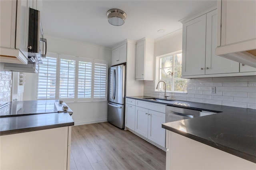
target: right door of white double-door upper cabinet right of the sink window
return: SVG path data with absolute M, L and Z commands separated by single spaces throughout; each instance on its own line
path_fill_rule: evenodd
M 239 63 L 215 54 L 217 47 L 217 9 L 206 14 L 205 74 L 238 73 Z

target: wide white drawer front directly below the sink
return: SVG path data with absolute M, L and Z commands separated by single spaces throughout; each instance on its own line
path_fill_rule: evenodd
M 136 100 L 136 106 L 150 109 L 152 111 L 162 112 L 162 113 L 165 113 L 165 107 L 166 107 L 165 105 L 161 105 L 158 103 L 141 101 L 141 100 Z

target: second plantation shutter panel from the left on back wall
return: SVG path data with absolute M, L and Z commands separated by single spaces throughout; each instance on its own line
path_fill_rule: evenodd
M 59 98 L 75 98 L 76 57 L 60 56 Z

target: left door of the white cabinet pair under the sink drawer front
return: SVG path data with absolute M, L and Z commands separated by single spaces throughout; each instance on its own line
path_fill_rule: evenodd
M 135 132 L 148 137 L 148 109 L 135 107 Z

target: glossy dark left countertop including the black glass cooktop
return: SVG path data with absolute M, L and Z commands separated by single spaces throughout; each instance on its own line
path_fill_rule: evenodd
M 70 113 L 56 107 L 55 102 L 58 100 L 6 103 L 0 109 L 0 135 L 74 125 Z

